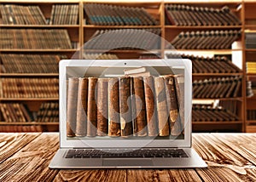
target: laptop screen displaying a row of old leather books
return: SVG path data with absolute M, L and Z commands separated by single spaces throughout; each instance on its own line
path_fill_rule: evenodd
M 65 69 L 68 141 L 184 139 L 184 66 Z

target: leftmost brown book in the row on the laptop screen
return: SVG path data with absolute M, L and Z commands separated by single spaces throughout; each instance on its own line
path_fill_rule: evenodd
M 77 121 L 79 78 L 68 78 L 67 91 L 67 136 L 75 136 Z

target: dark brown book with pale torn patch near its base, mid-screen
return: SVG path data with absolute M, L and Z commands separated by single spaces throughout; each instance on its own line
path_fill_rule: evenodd
M 119 111 L 121 136 L 131 136 L 133 130 L 131 118 L 131 77 L 119 78 Z

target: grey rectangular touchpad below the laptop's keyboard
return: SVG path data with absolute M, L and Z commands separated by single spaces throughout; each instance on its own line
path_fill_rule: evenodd
M 153 162 L 148 159 L 103 159 L 103 166 L 152 166 Z

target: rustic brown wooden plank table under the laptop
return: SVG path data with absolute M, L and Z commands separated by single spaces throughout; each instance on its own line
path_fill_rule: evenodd
M 208 168 L 53 170 L 58 134 L 0 134 L 0 181 L 256 181 L 256 134 L 193 134 Z

